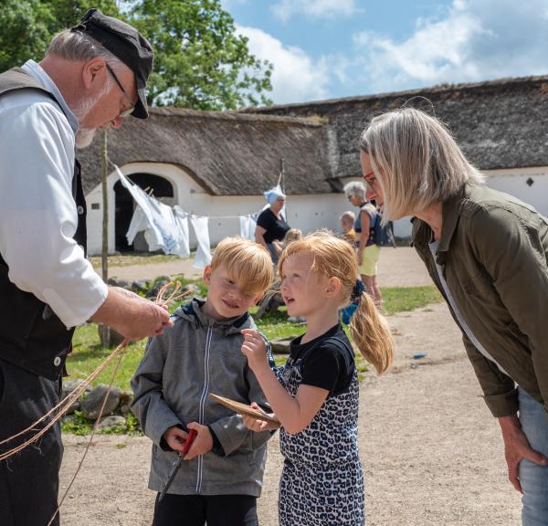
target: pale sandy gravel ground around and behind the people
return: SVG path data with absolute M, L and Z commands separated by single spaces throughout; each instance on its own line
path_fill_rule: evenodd
M 385 272 L 379 281 L 384 286 L 428 284 L 419 265 L 410 249 L 385 249 L 381 260 Z M 519 523 L 520 496 L 506 479 L 501 435 L 479 396 L 479 384 L 447 307 L 436 304 L 395 314 L 390 323 L 396 341 L 394 366 L 381 377 L 368 373 L 361 385 L 359 445 L 366 523 Z M 426 356 L 415 360 L 416 352 Z M 72 478 L 85 445 L 84 438 L 65 437 L 62 487 Z M 96 437 L 61 508 L 62 523 L 150 524 L 154 495 L 146 488 L 149 456 L 146 437 Z M 278 524 L 280 469 L 274 437 L 258 500 L 262 526 Z

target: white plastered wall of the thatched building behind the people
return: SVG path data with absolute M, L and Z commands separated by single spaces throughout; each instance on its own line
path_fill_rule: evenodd
M 227 236 L 239 233 L 237 218 L 227 219 L 224 216 L 245 216 L 260 210 L 265 205 L 262 195 L 217 196 L 209 195 L 194 179 L 181 168 L 173 164 L 132 163 L 121 168 L 123 174 L 145 173 L 160 175 L 174 186 L 174 204 L 197 216 L 208 216 L 209 234 L 213 245 Z M 548 167 L 518 168 L 512 170 L 485 171 L 487 184 L 511 195 L 525 203 L 533 205 L 543 216 L 548 216 Z M 526 181 L 532 179 L 533 184 Z M 349 181 L 360 181 L 359 177 L 345 178 Z M 109 251 L 114 251 L 114 184 L 118 176 L 113 172 L 107 180 L 109 193 Z M 265 189 L 266 190 L 266 189 Z M 102 225 L 102 194 L 98 185 L 89 195 L 88 201 L 88 247 L 90 255 L 100 254 Z M 171 200 L 170 200 L 171 201 Z M 93 209 L 99 204 L 99 209 Z M 171 203 L 170 203 L 171 204 Z M 290 226 L 300 228 L 304 233 L 318 228 L 339 229 L 339 216 L 346 210 L 355 208 L 350 205 L 343 194 L 290 195 L 287 200 L 287 217 Z M 395 222 L 395 236 L 409 237 L 411 224 L 405 217 Z M 195 247 L 195 237 L 191 228 L 191 246 Z

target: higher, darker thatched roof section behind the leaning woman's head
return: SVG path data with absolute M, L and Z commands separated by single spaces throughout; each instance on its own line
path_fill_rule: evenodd
M 417 96 L 431 102 L 437 117 L 448 124 L 479 169 L 548 164 L 548 76 L 251 108 L 247 112 L 326 118 L 337 145 L 331 158 L 335 174 L 355 176 L 359 174 L 358 141 L 367 121 Z M 431 110 L 425 101 L 413 100 L 411 104 Z

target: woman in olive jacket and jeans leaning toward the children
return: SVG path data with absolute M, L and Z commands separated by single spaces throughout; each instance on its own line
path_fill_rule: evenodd
M 361 137 L 364 179 L 385 220 L 413 219 L 413 245 L 462 331 L 499 419 L 524 526 L 548 524 L 548 221 L 482 185 L 448 130 L 406 108 Z

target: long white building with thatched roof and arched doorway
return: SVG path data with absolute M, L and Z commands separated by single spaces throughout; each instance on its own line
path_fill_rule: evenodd
M 153 109 L 147 121 L 130 119 L 109 132 L 109 157 L 124 174 L 170 205 L 209 216 L 210 236 L 238 233 L 236 218 L 265 205 L 262 192 L 277 183 L 281 162 L 290 226 L 310 232 L 338 229 L 352 206 L 343 184 L 360 178 L 358 140 L 366 121 L 420 95 L 448 124 L 488 184 L 516 195 L 548 216 L 548 77 L 501 79 L 399 93 L 245 112 Z M 416 106 L 416 103 L 414 103 Z M 426 108 L 425 108 L 426 107 Z M 100 148 L 80 153 L 88 200 L 90 254 L 100 253 Z M 127 250 L 133 203 L 111 171 L 108 177 L 109 251 Z M 409 236 L 409 221 L 395 234 Z M 191 239 L 191 244 L 194 242 Z M 135 246 L 139 243 L 136 241 Z

